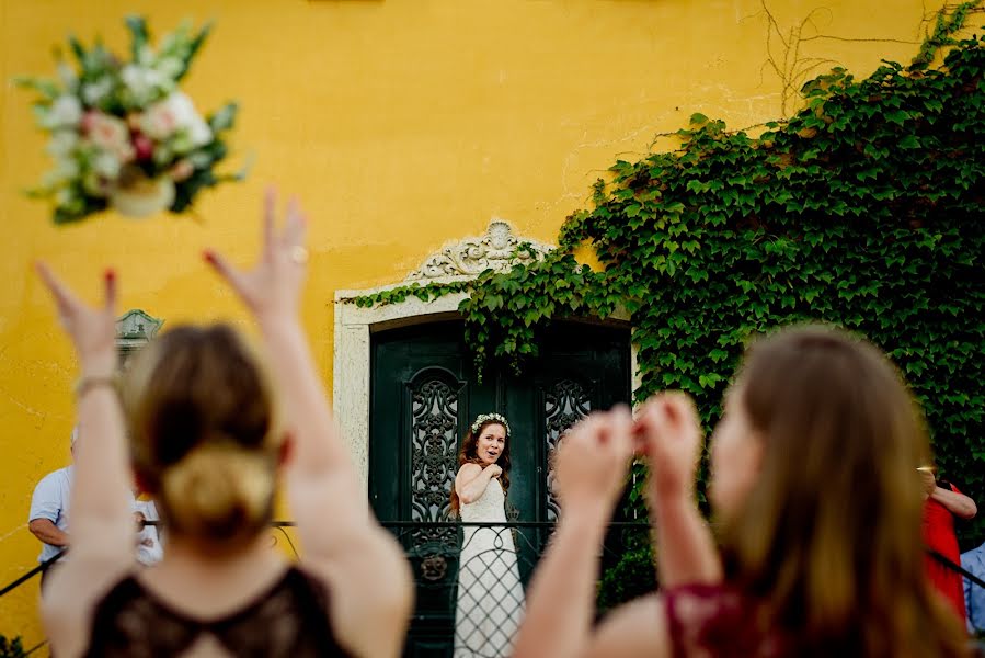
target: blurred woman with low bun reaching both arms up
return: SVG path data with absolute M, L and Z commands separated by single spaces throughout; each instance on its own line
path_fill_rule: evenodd
M 267 193 L 251 271 L 206 254 L 260 326 L 270 384 L 234 330 L 185 326 L 137 356 L 121 406 L 115 277 L 91 308 L 38 264 L 81 366 L 72 556 L 42 604 L 59 657 L 400 655 L 410 570 L 362 504 L 298 321 L 305 219 L 291 202 L 278 232 L 274 214 Z M 164 558 L 140 571 L 131 466 L 169 533 Z M 294 566 L 266 536 L 282 466 L 303 544 Z

